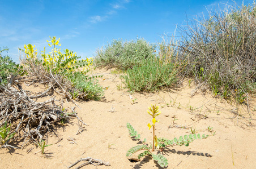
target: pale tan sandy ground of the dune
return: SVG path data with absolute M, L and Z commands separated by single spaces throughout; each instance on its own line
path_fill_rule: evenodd
M 170 146 L 162 153 L 168 159 L 168 168 L 256 168 L 256 130 L 255 101 L 250 101 L 250 113 L 254 120 L 249 121 L 246 106 L 228 104 L 227 101 L 215 99 L 211 93 L 196 94 L 190 97 L 195 86 L 184 82 L 183 87 L 154 94 L 129 94 L 120 79 L 120 74 L 110 70 L 95 70 L 93 74 L 104 75 L 99 79 L 108 89 L 102 101 L 76 101 L 81 109 L 76 108 L 78 116 L 88 124 L 85 130 L 76 135 L 78 119 L 56 125 L 56 130 L 48 135 L 45 157 L 34 144 L 24 149 L 0 149 L 1 168 L 67 168 L 80 158 L 91 157 L 109 162 L 110 166 L 93 166 L 83 168 L 161 168 L 151 157 L 139 162 L 130 162 L 126 152 L 138 141 L 130 138 L 126 123 L 129 122 L 142 139 L 150 142 L 152 130 L 147 123 L 151 118 L 148 106 L 156 104 L 162 114 L 156 123 L 157 137 L 173 139 L 191 134 L 190 128 L 197 133 L 210 135 L 204 140 L 195 140 L 188 147 Z M 25 90 L 44 91 L 42 87 L 27 87 Z M 132 99 L 131 99 L 132 98 Z M 49 99 L 49 98 L 43 98 Z M 249 99 L 253 100 L 253 99 Z M 71 112 L 71 103 L 65 103 Z M 174 120 L 175 119 L 175 120 Z M 213 127 L 209 132 L 207 127 Z M 212 136 L 212 134 L 215 135 Z M 21 147 L 23 142 L 17 143 Z M 34 148 L 31 152 L 27 150 Z M 36 153 L 36 154 L 35 154 Z M 83 162 L 76 164 L 78 167 Z

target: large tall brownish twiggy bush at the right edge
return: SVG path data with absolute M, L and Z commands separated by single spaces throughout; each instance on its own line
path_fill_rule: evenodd
M 233 96 L 243 103 L 247 92 L 256 92 L 255 24 L 255 3 L 227 6 L 209 12 L 208 19 L 188 21 L 187 28 L 180 27 L 180 46 L 190 54 L 183 73 L 207 83 L 214 96 Z

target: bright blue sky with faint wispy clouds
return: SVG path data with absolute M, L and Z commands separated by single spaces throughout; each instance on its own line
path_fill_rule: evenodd
M 48 46 L 49 36 L 61 38 L 61 48 L 68 48 L 82 58 L 92 57 L 96 49 L 113 39 L 150 43 L 161 41 L 161 34 L 172 35 L 176 25 L 207 16 L 228 1 L 144 1 L 144 0 L 0 0 L 0 47 L 18 61 L 18 47 L 36 45 L 40 51 Z M 234 2 L 229 1 L 232 5 Z M 236 1 L 238 5 L 242 1 Z M 245 5 L 253 1 L 244 1 Z M 47 48 L 50 51 L 49 48 Z M 5 55 L 5 53 L 3 53 Z

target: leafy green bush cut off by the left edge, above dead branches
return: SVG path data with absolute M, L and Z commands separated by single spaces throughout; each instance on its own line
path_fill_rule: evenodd
M 14 61 L 11 60 L 9 56 L 2 56 L 2 52 L 8 52 L 8 48 L 0 48 L 0 84 L 7 83 L 7 77 L 12 73 L 16 72 L 16 66 Z

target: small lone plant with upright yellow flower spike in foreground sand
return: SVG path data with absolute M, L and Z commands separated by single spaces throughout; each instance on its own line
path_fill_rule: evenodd
M 173 146 L 173 145 L 185 145 L 185 146 L 189 146 L 189 143 L 191 143 L 192 141 L 194 141 L 195 139 L 206 139 L 208 137 L 208 135 L 202 135 L 202 137 L 200 136 L 200 134 L 196 135 L 185 135 L 185 136 L 180 136 L 178 139 L 175 137 L 173 140 L 168 140 L 165 138 L 161 138 L 161 137 L 157 137 L 155 135 L 155 124 L 156 122 L 159 122 L 159 120 L 156 120 L 156 117 L 158 115 L 161 114 L 161 112 L 159 112 L 159 106 L 156 105 L 151 105 L 151 107 L 148 108 L 149 110 L 147 110 L 147 113 L 151 115 L 152 117 L 152 124 L 148 123 L 148 128 L 153 130 L 153 136 L 152 136 L 152 145 L 148 145 L 146 144 L 146 139 L 142 140 L 140 139 L 140 134 L 138 134 L 138 132 L 133 128 L 133 126 L 131 126 L 130 123 L 127 123 L 127 128 L 129 130 L 130 136 L 134 137 L 135 140 L 140 141 L 140 143 L 142 143 L 142 145 L 136 145 L 133 148 L 131 148 L 130 150 L 127 151 L 126 156 L 129 157 L 131 155 L 133 155 L 136 152 L 142 151 L 144 150 L 144 152 L 140 153 L 138 155 L 138 158 L 142 158 L 146 155 L 151 155 L 152 158 L 157 161 L 157 163 L 161 166 L 161 167 L 167 167 L 168 166 L 168 161 L 167 158 L 164 157 L 163 154 L 159 153 L 162 152 L 164 149 L 168 148 L 169 146 Z

